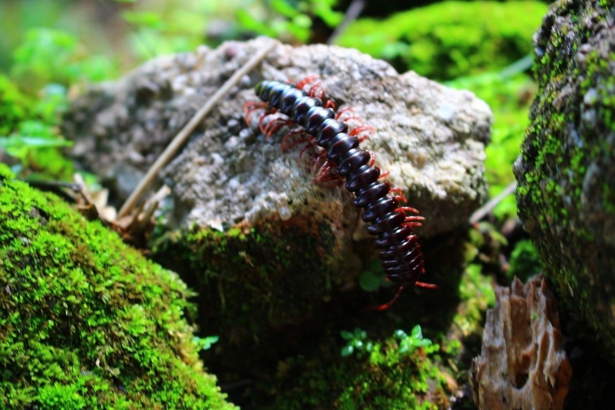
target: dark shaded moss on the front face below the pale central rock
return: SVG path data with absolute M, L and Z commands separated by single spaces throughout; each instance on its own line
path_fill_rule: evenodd
M 301 223 L 172 232 L 154 241 L 153 252 L 210 301 L 200 314 L 205 329 L 216 323 L 222 341 L 252 340 L 312 312 L 330 297 L 331 281 L 341 280 L 334 277 L 339 261 L 325 251 L 335 246 L 330 229 Z

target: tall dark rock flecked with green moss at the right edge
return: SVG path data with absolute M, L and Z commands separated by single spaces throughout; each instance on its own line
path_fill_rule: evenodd
M 615 360 L 615 6 L 555 4 L 515 164 L 520 218 L 558 299 Z M 608 353 L 607 353 L 608 352 Z

